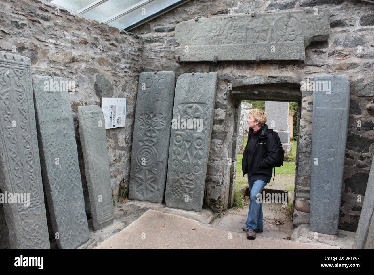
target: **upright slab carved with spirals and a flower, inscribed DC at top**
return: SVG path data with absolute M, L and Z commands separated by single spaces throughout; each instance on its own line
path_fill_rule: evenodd
M 131 199 L 162 202 L 174 91 L 173 71 L 140 74 L 131 154 Z

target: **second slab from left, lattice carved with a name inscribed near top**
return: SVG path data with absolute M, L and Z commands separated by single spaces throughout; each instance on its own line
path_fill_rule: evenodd
M 73 115 L 61 77 L 33 76 L 43 184 L 56 242 L 74 249 L 88 240 Z

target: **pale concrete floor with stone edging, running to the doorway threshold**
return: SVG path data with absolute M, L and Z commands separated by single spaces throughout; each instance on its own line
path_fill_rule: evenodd
M 217 215 L 129 200 L 114 205 L 110 226 L 94 231 L 90 220 L 90 239 L 78 249 L 350 249 L 354 238 L 354 232 L 340 232 L 328 241 L 326 236 L 310 240 L 313 232 L 308 226 L 294 231 L 281 204 L 263 204 L 264 232 L 248 240 L 241 228 L 247 215 L 248 205 Z

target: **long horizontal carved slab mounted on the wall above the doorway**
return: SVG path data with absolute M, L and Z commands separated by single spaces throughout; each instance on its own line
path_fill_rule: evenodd
M 180 61 L 290 60 L 305 57 L 310 42 L 327 40 L 330 11 L 257 13 L 181 22 L 175 27 Z M 256 58 L 256 55 L 257 58 Z

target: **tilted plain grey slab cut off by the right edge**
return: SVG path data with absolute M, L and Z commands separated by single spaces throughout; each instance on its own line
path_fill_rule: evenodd
M 360 215 L 360 221 L 356 230 L 355 242 L 353 243 L 354 248 L 364 249 L 365 243 L 367 243 L 370 223 L 373 223 L 374 215 L 374 158 L 371 162 L 370 174 L 368 184 L 366 186 L 364 202 L 362 204 L 362 210 Z M 374 228 L 373 228 L 374 229 Z

